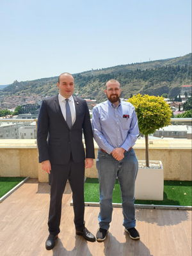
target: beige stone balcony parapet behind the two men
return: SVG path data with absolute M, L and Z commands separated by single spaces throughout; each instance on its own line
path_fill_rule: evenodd
M 139 160 L 145 159 L 145 140 L 137 140 L 134 145 Z M 95 157 L 98 146 L 95 143 Z M 165 180 L 191 180 L 191 140 L 157 139 L 149 140 L 150 160 L 163 163 Z M 0 176 L 31 177 L 47 182 L 48 175 L 38 163 L 36 140 L 0 140 Z M 94 165 L 85 171 L 86 177 L 97 177 Z

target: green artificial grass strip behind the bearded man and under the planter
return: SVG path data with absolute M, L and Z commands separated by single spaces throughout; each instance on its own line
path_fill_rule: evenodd
M 191 181 L 164 180 L 164 195 L 162 201 L 135 200 L 135 204 L 191 206 L 191 185 Z M 98 179 L 86 179 L 84 184 L 84 202 L 99 202 Z M 118 180 L 116 180 L 115 188 L 113 189 L 113 203 L 122 203 Z

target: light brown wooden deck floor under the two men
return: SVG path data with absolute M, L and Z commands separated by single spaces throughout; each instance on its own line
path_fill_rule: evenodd
M 61 233 L 56 247 L 45 250 L 48 236 L 49 185 L 29 179 L 0 204 L 1 256 L 172 256 L 191 255 L 191 211 L 137 209 L 140 241 L 132 241 L 122 226 L 122 209 L 113 210 L 106 241 L 90 243 L 75 235 L 69 186 L 63 196 Z M 96 234 L 99 207 L 86 207 L 86 227 Z

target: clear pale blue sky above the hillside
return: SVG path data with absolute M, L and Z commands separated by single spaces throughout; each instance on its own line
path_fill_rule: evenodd
M 1 0 L 0 84 L 191 52 L 191 0 Z

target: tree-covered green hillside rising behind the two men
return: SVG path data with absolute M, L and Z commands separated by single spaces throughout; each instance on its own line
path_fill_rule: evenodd
M 65 70 L 64 70 L 65 71 Z M 118 79 L 122 85 L 122 97 L 134 93 L 162 95 L 168 93 L 175 97 L 182 84 L 191 84 L 191 53 L 182 57 L 166 60 L 148 61 L 118 65 L 116 67 L 89 70 L 74 74 L 76 93 L 81 97 L 105 99 L 104 84 L 109 79 Z M 36 93 L 43 96 L 55 95 L 58 77 L 47 77 L 33 81 L 15 81 L 0 91 L 0 95 L 19 95 L 20 93 Z

